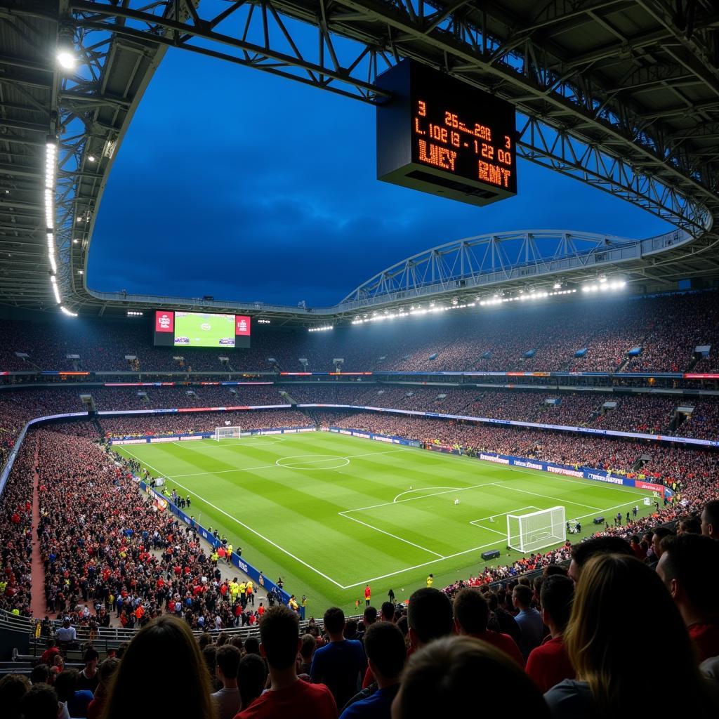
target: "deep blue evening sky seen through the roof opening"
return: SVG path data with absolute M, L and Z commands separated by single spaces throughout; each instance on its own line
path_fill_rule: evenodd
M 93 235 L 95 290 L 326 306 L 404 257 L 485 232 L 672 229 L 528 162 L 476 208 L 379 182 L 375 109 L 170 50 L 120 147 Z

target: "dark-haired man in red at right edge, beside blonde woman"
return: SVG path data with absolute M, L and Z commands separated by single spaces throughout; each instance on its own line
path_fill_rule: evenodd
M 684 533 L 661 540 L 656 573 L 667 585 L 697 647 L 699 661 L 719 655 L 719 542 Z

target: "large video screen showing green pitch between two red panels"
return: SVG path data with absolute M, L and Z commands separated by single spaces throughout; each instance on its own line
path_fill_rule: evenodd
M 165 347 L 249 347 L 247 315 L 209 312 L 155 312 L 155 344 Z

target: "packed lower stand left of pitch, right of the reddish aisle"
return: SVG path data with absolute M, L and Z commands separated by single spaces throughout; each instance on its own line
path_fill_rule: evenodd
M 54 431 L 37 431 L 37 446 L 38 536 L 52 617 L 132 628 L 164 611 L 195 630 L 256 622 L 259 601 L 248 607 L 244 595 L 241 604 L 229 592 L 196 532 L 142 495 L 113 454 Z

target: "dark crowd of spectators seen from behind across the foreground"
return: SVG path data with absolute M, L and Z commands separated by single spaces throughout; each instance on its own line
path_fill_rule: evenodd
M 569 569 L 552 564 L 501 595 L 464 587 L 452 600 L 423 587 L 407 605 L 367 606 L 359 626 L 329 608 L 301 631 L 275 605 L 259 642 L 243 642 L 197 637 L 160 615 L 100 664 L 86 646 L 81 672 L 42 663 L 30 677 L 7 674 L 0 707 L 7 719 L 415 719 L 508 707 L 552 719 L 713 719 L 719 503 L 697 519 L 702 533 L 664 533 L 658 559 L 638 559 L 617 536 L 591 539 L 572 548 Z M 642 657 L 671 667 L 669 684 L 642 671 Z M 153 667 L 168 669 L 170 686 Z

